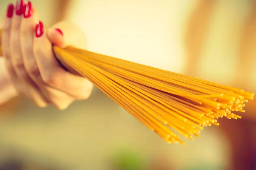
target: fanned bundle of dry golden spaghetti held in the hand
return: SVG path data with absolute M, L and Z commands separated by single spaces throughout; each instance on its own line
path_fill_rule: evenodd
M 185 144 L 218 118 L 240 119 L 253 94 L 238 88 L 90 51 L 54 46 L 56 58 L 113 99 L 168 143 Z

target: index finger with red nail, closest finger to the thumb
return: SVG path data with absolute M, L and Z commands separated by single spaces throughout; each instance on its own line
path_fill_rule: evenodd
M 63 38 L 59 30 L 54 29 L 54 31 L 55 34 L 59 34 L 58 36 Z M 42 23 L 38 24 L 38 30 L 35 34 L 34 54 L 41 77 L 47 85 L 66 92 L 76 97 L 76 99 L 87 99 L 90 96 L 93 84 L 83 77 L 65 71 L 61 67 L 52 53 L 52 45 L 44 34 Z

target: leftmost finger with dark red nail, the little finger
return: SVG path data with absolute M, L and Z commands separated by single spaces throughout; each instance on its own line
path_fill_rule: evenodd
M 8 70 L 9 76 L 11 77 L 11 81 L 13 83 L 13 85 L 15 86 L 17 92 L 19 94 L 23 94 L 23 89 L 20 86 L 20 80 L 17 77 L 17 74 L 15 73 L 15 70 L 12 66 L 12 62 L 10 59 L 10 48 L 9 48 L 9 44 L 10 44 L 10 28 L 12 25 L 12 16 L 14 13 L 14 5 L 11 3 L 8 5 L 7 7 L 7 11 L 6 11 L 6 17 L 4 18 L 3 21 L 3 28 L 2 28 L 2 40 L 1 40 L 1 45 L 2 45 L 2 53 L 3 56 L 6 59 L 6 68 Z

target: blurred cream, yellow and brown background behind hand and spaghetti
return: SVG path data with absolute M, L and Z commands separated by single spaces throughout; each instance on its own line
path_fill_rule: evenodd
M 0 16 L 9 2 L 0 1 Z M 88 50 L 256 93 L 255 0 L 32 3 L 47 27 L 78 23 Z M 97 88 L 66 111 L 18 97 L 0 105 L 0 170 L 256 170 L 256 100 L 245 110 L 183 146 L 164 142 Z

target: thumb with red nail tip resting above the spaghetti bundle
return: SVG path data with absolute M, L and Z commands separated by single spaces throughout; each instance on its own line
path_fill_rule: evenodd
M 76 48 L 86 48 L 86 38 L 84 32 L 73 23 L 59 22 L 47 30 L 47 37 L 53 45 L 60 48 L 74 46 Z

